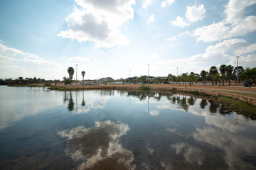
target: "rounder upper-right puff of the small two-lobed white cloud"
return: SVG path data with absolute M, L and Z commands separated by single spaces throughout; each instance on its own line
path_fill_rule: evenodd
M 204 8 L 203 4 L 201 6 L 188 6 L 186 11 L 186 18 L 188 18 L 189 22 L 193 23 L 198 20 L 202 20 L 205 13 L 206 9 Z

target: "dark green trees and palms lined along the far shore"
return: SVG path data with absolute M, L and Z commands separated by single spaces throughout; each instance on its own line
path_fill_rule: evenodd
M 73 67 L 68 67 L 67 72 L 69 74 L 69 77 L 63 77 L 63 83 L 66 84 L 72 84 L 73 75 L 75 73 L 75 69 Z M 85 71 L 81 72 L 82 75 L 82 81 L 84 81 L 85 77 Z M 222 81 L 222 84 L 224 86 L 224 81 L 228 80 L 228 85 L 230 85 L 231 80 L 237 80 L 237 76 L 239 77 L 239 81 L 247 81 L 249 87 L 252 83 L 256 83 L 256 67 L 250 69 L 247 67 L 246 69 L 243 69 L 242 66 L 239 67 L 233 67 L 232 65 L 220 65 L 219 68 L 212 66 L 210 67 L 209 71 L 202 70 L 200 74 L 196 74 L 194 72 L 183 73 L 181 75 L 178 75 L 177 77 L 172 74 L 168 74 L 167 79 L 168 81 L 172 81 L 173 83 L 180 83 L 181 81 L 185 84 L 186 82 L 189 83 L 189 85 L 193 84 L 193 82 L 198 83 L 198 81 L 201 81 L 202 84 L 206 84 L 206 81 L 211 81 L 213 85 L 217 85 Z M 134 79 L 127 78 L 127 79 L 121 79 L 122 83 L 125 82 L 132 82 L 132 83 L 142 83 L 145 84 L 149 82 L 149 78 L 153 78 L 154 82 L 156 84 L 159 84 L 161 82 L 160 77 L 148 77 L 146 75 L 142 75 L 140 77 L 135 77 Z M 113 80 L 114 81 L 114 80 Z M 18 77 L 18 79 L 0 79 L 0 85 L 26 85 L 26 84 L 46 84 L 46 83 L 60 83 L 60 80 L 45 80 L 34 77 L 32 78 L 25 78 Z M 240 83 L 240 82 L 237 82 Z

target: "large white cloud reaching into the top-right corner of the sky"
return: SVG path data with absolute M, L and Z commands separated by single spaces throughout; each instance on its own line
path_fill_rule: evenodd
M 214 42 L 254 32 L 256 30 L 256 16 L 244 17 L 245 8 L 252 4 L 256 4 L 256 1 L 230 0 L 225 6 L 226 18 L 223 21 L 196 28 L 193 31 L 193 36 L 198 42 Z

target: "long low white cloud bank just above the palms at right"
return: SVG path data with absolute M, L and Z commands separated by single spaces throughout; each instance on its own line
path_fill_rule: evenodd
M 208 69 L 205 65 L 210 66 L 216 61 L 220 62 L 220 64 L 232 64 L 235 66 L 235 54 L 238 54 L 238 52 L 247 53 L 255 51 L 255 44 L 248 45 L 246 40 L 235 38 L 223 40 L 223 42 L 218 42 L 215 45 L 209 45 L 204 53 L 181 59 L 160 60 L 157 64 L 159 64 L 161 69 L 168 69 L 170 67 L 177 67 L 177 63 L 182 63 L 182 65 L 178 66 L 178 69 L 182 70 L 182 72 L 191 72 L 191 70 L 193 72 L 201 72 L 203 69 Z M 240 56 L 240 64 L 242 66 L 255 67 L 255 58 L 256 55 Z M 230 62 L 227 63 L 227 60 L 230 60 Z

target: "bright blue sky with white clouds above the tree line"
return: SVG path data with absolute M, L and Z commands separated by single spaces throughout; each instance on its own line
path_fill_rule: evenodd
M 256 67 L 256 0 L 1 0 L 0 23 L 0 79 Z

